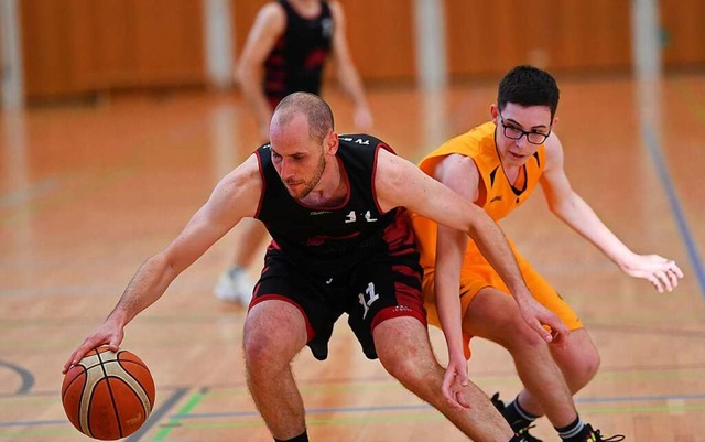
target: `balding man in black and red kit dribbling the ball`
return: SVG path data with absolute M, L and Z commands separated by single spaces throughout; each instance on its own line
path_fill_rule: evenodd
M 123 328 L 178 273 L 245 217 L 272 235 L 245 322 L 247 381 L 275 441 L 307 441 L 305 411 L 291 362 L 304 346 L 327 356 L 344 313 L 367 357 L 475 441 L 521 441 L 487 396 L 467 381 L 457 409 L 442 395 L 444 369 L 429 341 L 421 267 L 404 207 L 466 231 L 502 276 L 523 317 L 547 342 L 567 328 L 533 301 L 501 230 L 479 207 L 365 134 L 338 138 L 328 105 L 295 93 L 280 103 L 263 144 L 224 177 L 208 202 L 128 284 L 106 322 L 72 354 L 113 351 Z M 553 334 L 546 332 L 547 325 Z M 556 341 L 557 342 L 557 341 Z

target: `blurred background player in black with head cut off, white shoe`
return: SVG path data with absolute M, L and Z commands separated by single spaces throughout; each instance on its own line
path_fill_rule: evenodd
M 286 95 L 319 95 L 325 62 L 333 58 L 343 89 L 355 104 L 355 125 L 367 131 L 372 116 L 345 37 L 345 14 L 338 1 L 278 0 L 264 4 L 250 30 L 238 64 L 241 90 L 257 117 L 260 141 L 267 142 L 272 109 Z M 264 78 L 262 79 L 262 71 Z M 218 299 L 247 305 L 252 282 L 247 268 L 267 231 L 248 219 L 239 227 L 231 266 L 215 287 Z

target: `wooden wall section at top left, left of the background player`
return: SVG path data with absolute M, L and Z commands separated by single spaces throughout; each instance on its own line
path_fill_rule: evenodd
M 205 83 L 202 0 L 23 0 L 28 98 Z

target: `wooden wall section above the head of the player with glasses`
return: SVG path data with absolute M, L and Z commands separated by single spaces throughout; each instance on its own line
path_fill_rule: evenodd
M 629 7 L 627 0 L 446 0 L 448 71 L 497 75 L 522 63 L 628 68 Z

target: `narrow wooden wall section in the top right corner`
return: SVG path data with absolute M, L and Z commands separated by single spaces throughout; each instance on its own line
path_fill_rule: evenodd
M 666 67 L 705 65 L 705 2 L 703 0 L 661 1 Z

